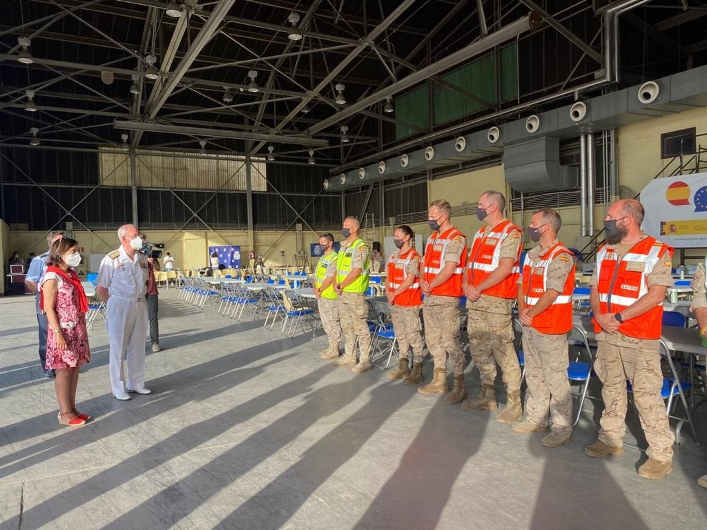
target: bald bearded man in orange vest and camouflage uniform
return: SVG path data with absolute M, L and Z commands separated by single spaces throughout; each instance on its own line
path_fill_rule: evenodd
M 604 411 L 599 437 L 585 453 L 600 458 L 624 452 L 628 379 L 648 442 L 648 461 L 638 474 L 662 478 L 672 471 L 675 441 L 660 396 L 658 343 L 662 302 L 673 284 L 673 250 L 641 231 L 643 215 L 641 203 L 628 199 L 609 206 L 604 218 L 606 241 L 597 249 L 590 281 L 598 346 L 594 370 L 602 382 Z

